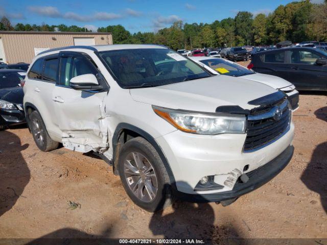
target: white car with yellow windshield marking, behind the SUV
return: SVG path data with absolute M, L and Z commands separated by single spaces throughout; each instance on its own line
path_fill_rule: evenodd
M 231 77 L 242 77 L 243 79 L 251 80 L 266 84 L 272 88 L 283 91 L 287 94 L 288 100 L 292 105 L 293 111 L 298 109 L 298 91 L 295 86 L 283 78 L 271 76 L 267 74 L 256 73 L 245 68 L 235 62 L 213 57 L 190 57 L 191 60 L 217 75 L 225 75 Z

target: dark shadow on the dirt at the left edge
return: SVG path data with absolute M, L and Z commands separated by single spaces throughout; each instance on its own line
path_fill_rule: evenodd
M 0 132 L 0 216 L 10 210 L 29 183 L 31 175 L 21 151 L 28 148 L 8 131 Z

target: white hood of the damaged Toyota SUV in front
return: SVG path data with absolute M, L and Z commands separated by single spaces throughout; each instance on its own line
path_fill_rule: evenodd
M 134 101 L 200 112 L 215 112 L 219 106 L 252 109 L 248 102 L 276 92 L 262 83 L 242 78 L 214 76 L 153 88 L 130 89 Z

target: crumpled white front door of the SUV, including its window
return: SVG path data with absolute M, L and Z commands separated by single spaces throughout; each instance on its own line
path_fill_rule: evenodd
M 69 81 L 84 74 L 94 74 L 104 89 L 101 91 L 73 89 Z M 52 99 L 65 148 L 79 152 L 106 148 L 107 127 L 104 123 L 106 118 L 103 104 L 108 89 L 109 86 L 100 70 L 89 56 L 75 52 L 60 53 L 59 80 Z

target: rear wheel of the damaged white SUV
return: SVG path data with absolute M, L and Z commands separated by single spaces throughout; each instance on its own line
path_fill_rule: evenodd
M 29 117 L 29 128 L 31 129 L 37 147 L 42 152 L 49 152 L 57 149 L 59 142 L 50 138 L 40 114 L 37 111 L 33 111 Z

